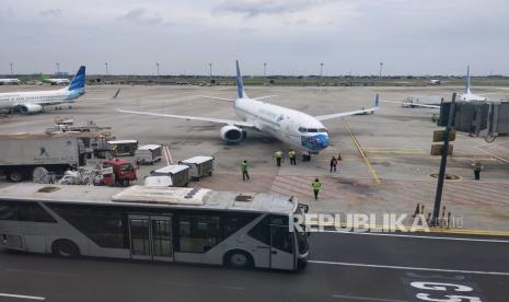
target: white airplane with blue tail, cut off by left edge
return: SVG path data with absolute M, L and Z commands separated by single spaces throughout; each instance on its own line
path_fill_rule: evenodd
M 37 114 L 45 106 L 71 104 L 84 94 L 85 67 L 82 66 L 71 83 L 60 90 L 0 93 L 0 111 Z M 56 108 L 60 108 L 57 106 Z

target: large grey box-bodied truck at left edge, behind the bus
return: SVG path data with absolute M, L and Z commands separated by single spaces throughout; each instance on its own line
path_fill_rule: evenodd
M 63 174 L 84 164 L 83 141 L 71 133 L 0 136 L 0 171 L 11 182 L 32 177 L 36 167 Z

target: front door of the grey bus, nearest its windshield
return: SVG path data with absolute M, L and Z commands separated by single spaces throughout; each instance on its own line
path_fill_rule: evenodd
M 270 228 L 270 268 L 292 269 L 297 265 L 293 233 L 288 225 L 269 225 Z

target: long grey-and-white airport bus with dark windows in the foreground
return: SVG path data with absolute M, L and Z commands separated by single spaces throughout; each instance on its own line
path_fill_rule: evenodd
M 0 247 L 232 267 L 298 269 L 305 206 L 278 194 L 20 184 L 0 189 Z

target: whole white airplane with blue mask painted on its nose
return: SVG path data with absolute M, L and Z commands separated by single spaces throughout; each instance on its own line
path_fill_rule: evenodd
M 325 126 L 323 126 L 323 120 L 351 116 L 365 112 L 370 113 L 380 108 L 378 95 L 374 98 L 374 106 L 372 108 L 321 116 L 311 116 L 299 111 L 268 104 L 264 100 L 269 98 L 269 96 L 250 98 L 244 91 L 239 61 L 236 61 L 236 92 L 238 96 L 235 100 L 221 97 L 210 98 L 233 104 L 233 109 L 241 120 L 136 112 L 122 108 L 117 108 L 117 111 L 128 114 L 200 120 L 223 125 L 219 133 L 220 137 L 228 142 L 240 142 L 245 139 L 245 129 L 262 131 L 291 146 L 296 151 L 301 151 L 304 155 L 304 160 L 309 160 L 311 154 L 317 154 L 328 147 L 328 131 Z

